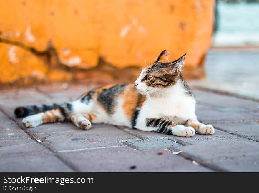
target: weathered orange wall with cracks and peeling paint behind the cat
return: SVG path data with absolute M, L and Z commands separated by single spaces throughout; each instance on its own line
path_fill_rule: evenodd
M 214 0 L 0 3 L 0 83 L 70 80 L 71 69 L 94 68 L 99 57 L 139 67 L 164 49 L 171 60 L 187 53 L 193 70 L 211 43 Z

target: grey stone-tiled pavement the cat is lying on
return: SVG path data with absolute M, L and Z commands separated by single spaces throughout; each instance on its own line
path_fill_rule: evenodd
M 259 172 L 259 102 L 253 100 L 194 89 L 198 119 L 216 128 L 194 137 L 101 124 L 88 131 L 72 123 L 27 129 L 14 116 L 18 105 L 69 101 L 90 87 L 1 90 L 0 172 Z

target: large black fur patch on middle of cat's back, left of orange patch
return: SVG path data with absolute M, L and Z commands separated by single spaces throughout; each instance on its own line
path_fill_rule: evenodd
M 105 88 L 99 94 L 97 101 L 103 105 L 107 113 L 114 113 L 114 106 L 117 104 L 116 97 L 124 90 L 127 84 L 119 84 L 111 88 Z

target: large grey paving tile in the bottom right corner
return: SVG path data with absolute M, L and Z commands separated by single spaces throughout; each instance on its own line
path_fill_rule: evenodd
M 182 154 L 187 153 L 192 159 L 197 158 L 197 161 L 209 162 L 216 167 L 233 172 L 237 170 L 232 165 L 239 162 L 240 157 L 259 157 L 259 143 L 242 137 L 214 141 L 206 140 L 195 145 L 181 146 L 181 148 L 177 149 L 176 147 L 170 147 L 169 149 L 174 151 L 183 150 Z M 233 170 L 231 170 L 232 167 Z M 250 162 L 250 164 L 246 164 L 246 167 L 243 168 L 243 171 L 250 171 L 255 166 L 253 162 Z M 257 171 L 259 171 L 259 165 Z

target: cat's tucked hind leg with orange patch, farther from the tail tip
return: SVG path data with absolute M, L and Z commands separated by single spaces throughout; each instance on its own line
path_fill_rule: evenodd
M 71 115 L 70 119 L 77 127 L 85 130 L 89 130 L 91 128 L 91 122 L 101 122 L 101 120 L 98 120 L 96 113 L 75 113 Z

